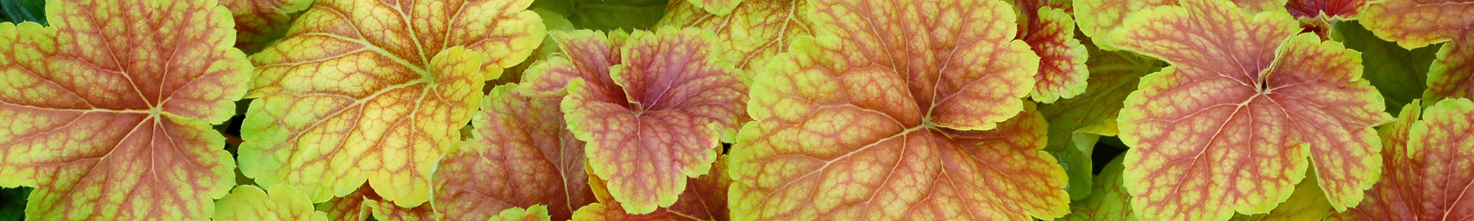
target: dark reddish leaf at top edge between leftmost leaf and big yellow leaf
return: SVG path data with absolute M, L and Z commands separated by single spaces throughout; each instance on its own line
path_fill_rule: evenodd
M 246 53 L 261 52 L 292 25 L 292 16 L 307 10 L 312 0 L 220 0 L 236 19 L 236 47 Z

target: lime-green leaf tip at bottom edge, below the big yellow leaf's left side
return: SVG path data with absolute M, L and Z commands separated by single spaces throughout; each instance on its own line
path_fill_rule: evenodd
M 256 186 L 237 186 L 215 202 L 217 221 L 314 220 L 327 221 L 327 214 L 312 211 L 307 194 L 290 186 L 271 186 L 270 194 Z

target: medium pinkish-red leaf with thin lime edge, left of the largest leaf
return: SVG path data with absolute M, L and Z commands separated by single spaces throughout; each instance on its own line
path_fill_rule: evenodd
M 629 214 L 671 206 L 706 174 L 744 118 L 749 80 L 718 59 L 710 31 L 554 32 L 566 57 L 529 68 L 523 90 L 557 93 L 588 165 Z

